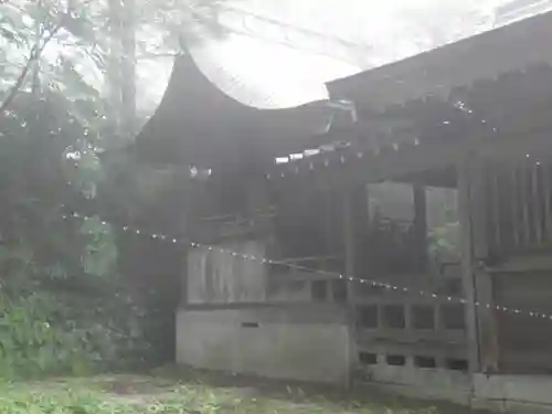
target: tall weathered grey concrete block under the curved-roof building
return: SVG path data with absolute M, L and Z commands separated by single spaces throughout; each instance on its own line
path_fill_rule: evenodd
M 294 321 L 285 308 L 182 309 L 177 315 L 177 362 L 346 385 L 350 338 L 340 319 L 344 318 L 337 315 L 335 322 Z

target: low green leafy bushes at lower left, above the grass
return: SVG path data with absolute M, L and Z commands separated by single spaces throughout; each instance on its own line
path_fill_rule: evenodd
M 81 227 L 84 272 L 56 263 L 43 268 L 32 250 L 3 247 L 10 269 L 0 291 L 0 375 L 84 374 L 144 359 L 140 308 L 115 273 L 113 235 L 97 220 Z

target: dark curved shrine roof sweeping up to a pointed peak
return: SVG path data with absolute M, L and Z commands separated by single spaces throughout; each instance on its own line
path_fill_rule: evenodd
M 174 61 L 161 103 L 136 139 L 149 161 L 213 168 L 272 162 L 328 130 L 327 100 L 283 109 L 246 106 L 214 85 L 185 53 Z

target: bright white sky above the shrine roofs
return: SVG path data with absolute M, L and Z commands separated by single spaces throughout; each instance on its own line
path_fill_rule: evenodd
M 490 15 L 498 3 L 506 1 L 236 0 L 222 22 L 240 33 L 208 42 L 194 55 L 204 73 L 238 100 L 258 107 L 294 106 L 325 98 L 327 81 L 432 47 L 432 33 L 454 34 L 458 29 L 471 28 L 473 21 L 463 20 L 468 11 Z M 289 26 L 278 28 L 250 12 Z M 293 26 L 323 36 L 306 35 Z M 351 47 L 332 36 L 365 49 L 352 49 L 351 53 Z M 144 64 L 141 73 L 146 75 L 153 67 L 155 82 L 141 85 L 147 85 L 141 92 L 148 107 L 155 107 L 164 92 L 170 62 L 149 63 L 147 71 Z M 221 77 L 226 79 L 221 82 Z M 236 81 L 241 87 L 232 86 Z

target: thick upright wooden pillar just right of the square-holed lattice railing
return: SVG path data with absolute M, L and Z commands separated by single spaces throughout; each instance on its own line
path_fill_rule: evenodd
M 467 153 L 457 172 L 469 367 L 471 371 L 490 372 L 498 370 L 499 355 L 492 280 L 485 272 L 489 252 L 484 160 L 476 153 Z

